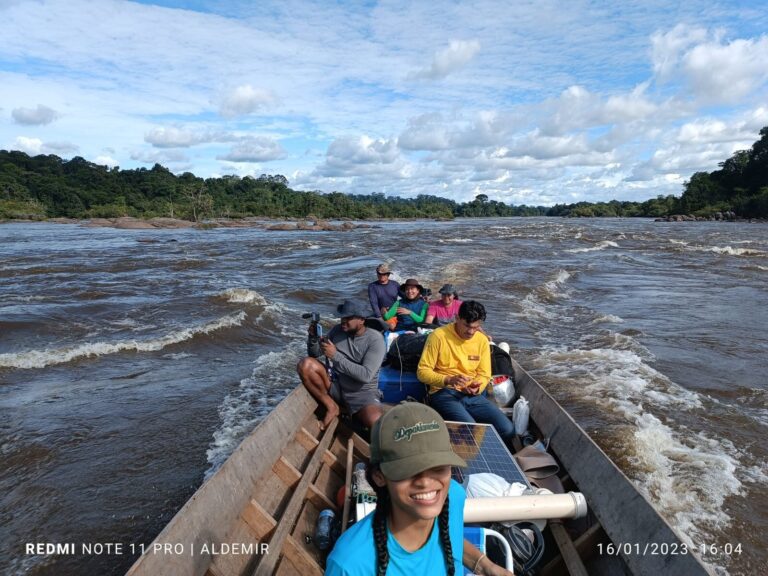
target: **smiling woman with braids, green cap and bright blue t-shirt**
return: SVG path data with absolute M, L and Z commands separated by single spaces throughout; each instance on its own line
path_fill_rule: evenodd
M 466 467 L 440 415 L 404 402 L 371 430 L 368 481 L 376 510 L 342 534 L 326 576 L 511 576 L 464 540 L 464 489 L 451 466 Z

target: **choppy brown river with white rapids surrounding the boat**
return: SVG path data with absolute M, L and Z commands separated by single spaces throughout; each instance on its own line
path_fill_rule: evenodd
M 302 313 L 330 320 L 379 262 L 485 303 L 677 532 L 717 547 L 719 574 L 768 573 L 766 224 L 377 226 L 0 226 L 0 573 L 124 573 L 297 384 Z

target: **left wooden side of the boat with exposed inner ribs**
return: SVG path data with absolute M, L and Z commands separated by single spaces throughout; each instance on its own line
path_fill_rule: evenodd
M 325 454 L 330 446 L 321 445 L 313 414 L 316 407 L 302 387 L 291 392 L 179 510 L 128 575 L 251 574 L 262 560 L 280 554 L 281 551 L 271 548 L 265 553 L 258 547 L 248 553 L 247 545 L 269 541 L 312 456 L 318 453 L 328 484 L 326 492 L 329 493 L 318 492 L 315 496 L 321 508 L 332 501 L 323 499 L 329 499 L 330 492 L 338 489 L 327 478 L 335 474 L 336 484 L 343 482 L 339 476 L 343 466 L 335 462 L 332 452 Z M 307 493 L 312 490 L 306 488 Z M 314 519 L 306 521 L 314 522 Z M 287 539 L 284 548 L 291 549 L 290 556 L 297 564 L 304 562 L 309 569 L 303 565 L 285 565 L 281 572 L 300 571 L 305 576 L 322 574 L 317 565 L 319 558 L 313 557 L 314 551 L 304 544 L 303 538 L 298 540 Z M 245 548 L 246 553 L 217 554 L 223 545 L 243 545 L 238 547 L 241 551 Z M 183 553 L 167 553 L 167 546 L 175 546 Z

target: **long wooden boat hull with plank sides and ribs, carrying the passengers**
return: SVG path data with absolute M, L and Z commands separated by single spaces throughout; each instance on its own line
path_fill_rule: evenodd
M 573 525 L 550 522 L 559 550 L 542 575 L 711 574 L 632 482 L 519 365 L 515 384 L 531 419 L 550 438 L 563 483 L 587 498 L 590 514 Z M 293 575 L 323 573 L 310 541 L 319 512 L 336 502 L 368 444 L 343 423 L 321 432 L 317 405 L 291 392 L 192 496 L 128 571 L 128 576 Z M 347 503 L 349 500 L 346 501 Z M 574 534 L 574 531 L 577 533 Z

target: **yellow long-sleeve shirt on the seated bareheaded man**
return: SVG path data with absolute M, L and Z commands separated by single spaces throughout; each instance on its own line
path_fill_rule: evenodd
M 464 340 L 456 334 L 454 324 L 448 324 L 427 338 L 416 376 L 434 394 L 445 387 L 446 377 L 457 374 L 481 382 L 480 391 L 485 390 L 491 380 L 491 347 L 485 334 L 475 332 Z

